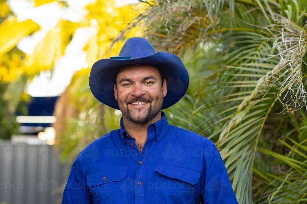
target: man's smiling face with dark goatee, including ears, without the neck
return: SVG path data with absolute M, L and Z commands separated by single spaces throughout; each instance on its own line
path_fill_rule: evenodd
M 114 85 L 115 99 L 122 115 L 133 123 L 146 123 L 160 111 L 166 96 L 166 80 L 156 67 L 139 65 L 119 70 Z

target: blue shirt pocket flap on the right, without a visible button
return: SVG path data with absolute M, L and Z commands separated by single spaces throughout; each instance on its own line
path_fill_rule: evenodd
M 177 166 L 156 165 L 155 171 L 164 176 L 179 179 L 192 185 L 197 184 L 200 177 L 199 172 Z

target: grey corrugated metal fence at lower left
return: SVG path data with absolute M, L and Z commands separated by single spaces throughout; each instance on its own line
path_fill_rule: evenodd
M 63 152 L 50 145 L 0 141 L 0 203 L 60 203 L 65 182 Z

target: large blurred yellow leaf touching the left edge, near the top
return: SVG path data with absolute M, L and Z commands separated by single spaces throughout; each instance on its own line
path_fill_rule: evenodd
M 0 24 L 0 55 L 15 47 L 21 38 L 38 29 L 40 26 L 30 19 L 18 22 L 15 16 L 8 17 Z

